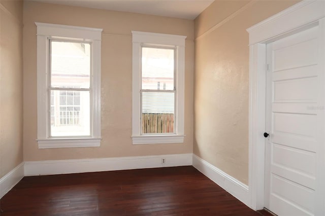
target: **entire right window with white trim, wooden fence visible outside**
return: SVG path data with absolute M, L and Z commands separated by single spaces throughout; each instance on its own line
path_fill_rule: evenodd
M 132 34 L 133 143 L 183 142 L 186 37 Z

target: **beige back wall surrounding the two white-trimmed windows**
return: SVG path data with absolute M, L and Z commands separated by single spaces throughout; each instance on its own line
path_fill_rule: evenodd
M 24 2 L 24 160 L 107 158 L 192 153 L 193 21 L 37 2 Z M 38 149 L 36 25 L 103 28 L 102 144 L 98 148 Z M 131 30 L 186 35 L 184 143 L 132 145 Z

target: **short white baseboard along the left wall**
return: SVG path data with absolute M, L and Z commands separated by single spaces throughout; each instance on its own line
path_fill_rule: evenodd
M 24 162 L 0 179 L 0 199 L 24 177 Z

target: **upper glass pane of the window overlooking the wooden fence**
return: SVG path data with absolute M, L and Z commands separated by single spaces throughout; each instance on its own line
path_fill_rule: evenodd
M 142 48 L 142 89 L 174 90 L 174 51 Z

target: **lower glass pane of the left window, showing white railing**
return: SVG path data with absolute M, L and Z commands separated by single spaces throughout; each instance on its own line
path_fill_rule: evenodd
M 89 136 L 89 91 L 51 90 L 51 95 L 51 136 Z

